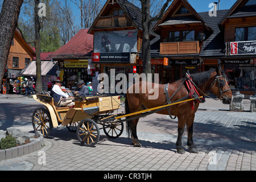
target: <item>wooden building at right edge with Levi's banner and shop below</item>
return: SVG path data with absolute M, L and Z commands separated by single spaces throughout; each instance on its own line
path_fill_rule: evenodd
M 256 87 L 256 1 L 236 1 L 218 26 L 225 35 L 225 55 L 221 61 L 230 88 L 253 95 Z

